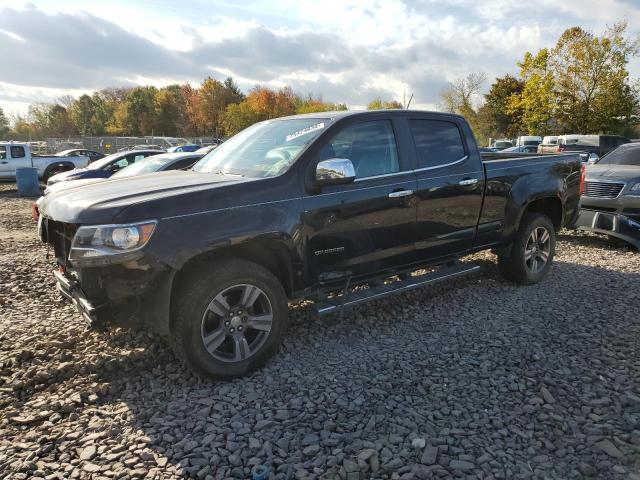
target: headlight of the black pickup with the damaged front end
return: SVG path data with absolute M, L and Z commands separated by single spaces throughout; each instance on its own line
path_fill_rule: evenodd
M 126 225 L 80 227 L 71 242 L 69 260 L 89 260 L 141 249 L 156 229 L 155 220 Z

